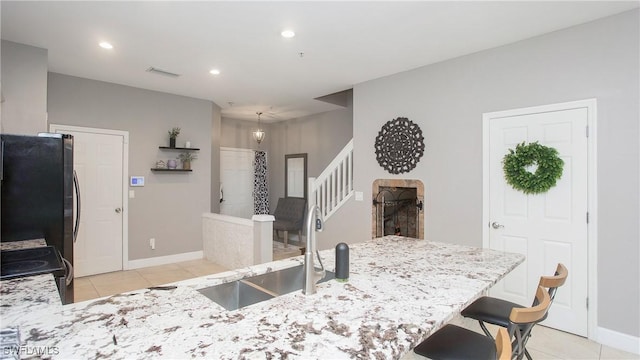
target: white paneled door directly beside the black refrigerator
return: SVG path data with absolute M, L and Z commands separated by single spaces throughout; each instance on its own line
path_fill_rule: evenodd
M 74 137 L 81 194 L 76 277 L 123 269 L 123 136 L 56 129 Z M 74 199 L 75 201 L 75 199 Z

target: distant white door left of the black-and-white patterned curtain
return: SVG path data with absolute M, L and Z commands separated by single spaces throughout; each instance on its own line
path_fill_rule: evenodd
M 220 149 L 220 213 L 253 216 L 253 160 L 250 149 Z

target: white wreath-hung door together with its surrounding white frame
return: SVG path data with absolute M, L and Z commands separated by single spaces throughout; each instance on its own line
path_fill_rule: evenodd
M 522 303 L 540 274 L 563 263 L 573 271 L 570 291 L 558 294 L 545 326 L 589 338 L 598 311 L 596 114 L 595 99 L 483 114 L 483 246 L 526 256 L 490 294 Z M 565 163 L 545 193 L 526 195 L 504 180 L 501 160 L 523 141 L 554 147 Z

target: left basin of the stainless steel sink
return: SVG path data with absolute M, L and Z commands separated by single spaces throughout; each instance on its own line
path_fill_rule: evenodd
M 227 310 L 240 309 L 274 297 L 254 286 L 245 284 L 242 280 L 210 286 L 198 291 Z

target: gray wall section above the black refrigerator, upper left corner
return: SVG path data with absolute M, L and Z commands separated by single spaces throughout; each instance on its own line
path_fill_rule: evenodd
M 0 132 L 47 130 L 47 50 L 2 40 Z

